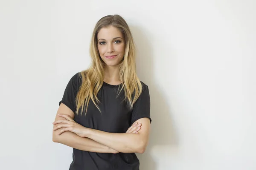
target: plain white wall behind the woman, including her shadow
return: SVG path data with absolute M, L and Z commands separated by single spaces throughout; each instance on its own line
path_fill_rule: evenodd
M 256 169 L 256 1 L 1 0 L 0 169 L 67 170 L 52 142 L 68 80 L 88 67 L 95 23 L 128 22 L 151 94 L 141 170 Z

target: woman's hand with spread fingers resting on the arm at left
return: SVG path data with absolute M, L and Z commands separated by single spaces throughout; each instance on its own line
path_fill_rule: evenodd
M 58 116 L 65 118 L 52 123 L 53 125 L 56 125 L 56 127 L 54 127 L 53 130 L 58 130 L 59 128 L 61 128 L 58 135 L 65 131 L 70 131 L 76 133 L 80 137 L 85 137 L 87 127 L 84 127 L 79 123 L 76 123 L 70 116 L 66 114 L 58 114 Z

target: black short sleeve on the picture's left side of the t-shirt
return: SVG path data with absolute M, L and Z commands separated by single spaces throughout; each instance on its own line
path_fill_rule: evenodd
M 68 108 L 70 108 L 74 113 L 76 113 L 76 94 L 79 89 L 78 85 L 79 73 L 76 73 L 73 77 L 71 77 L 70 81 L 67 83 L 62 100 L 59 102 L 59 105 L 63 103 Z

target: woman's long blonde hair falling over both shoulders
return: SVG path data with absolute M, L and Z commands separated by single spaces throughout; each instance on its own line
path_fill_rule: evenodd
M 81 113 L 83 112 L 83 109 L 85 108 L 84 104 L 86 104 L 85 113 L 87 113 L 90 99 L 99 109 L 98 104 L 100 101 L 97 98 L 97 94 L 103 85 L 105 62 L 103 62 L 99 55 L 97 48 L 97 34 L 101 28 L 106 28 L 108 26 L 118 28 L 125 37 L 125 54 L 122 62 L 119 64 L 119 79 L 122 82 L 122 84 L 120 84 L 122 86 L 120 91 L 124 90 L 124 100 L 127 101 L 127 104 L 131 109 L 142 93 L 142 85 L 136 74 L 135 45 L 130 28 L 121 16 L 108 15 L 102 17 L 96 23 L 93 30 L 90 43 L 90 57 L 92 59 L 90 68 L 79 73 L 82 78 L 82 83 L 76 96 L 76 114 L 79 113 L 80 108 Z

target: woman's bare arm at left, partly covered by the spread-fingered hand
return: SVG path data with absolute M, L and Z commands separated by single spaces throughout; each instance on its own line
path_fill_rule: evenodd
M 64 119 L 60 116 L 58 116 L 58 114 L 67 114 L 69 115 L 72 119 L 74 119 L 75 114 L 73 113 L 73 111 L 71 111 L 70 108 L 68 108 L 66 105 L 64 105 L 63 103 L 61 103 L 60 107 L 58 108 L 56 117 L 55 117 L 55 121 L 60 120 L 60 119 Z M 56 125 L 53 126 L 53 128 Z M 58 135 L 58 132 L 61 129 L 58 130 L 52 130 L 52 141 L 53 142 L 57 142 L 57 143 L 61 143 L 61 144 L 65 144 L 69 147 L 73 147 L 79 150 L 84 150 L 84 151 L 89 151 L 89 152 L 97 152 L 97 153 L 118 153 L 116 150 L 113 150 L 110 147 L 107 147 L 103 144 L 100 144 L 90 138 L 82 138 L 78 135 L 76 135 L 76 133 L 70 132 L 70 131 L 66 131 L 64 133 L 62 133 L 61 135 Z

